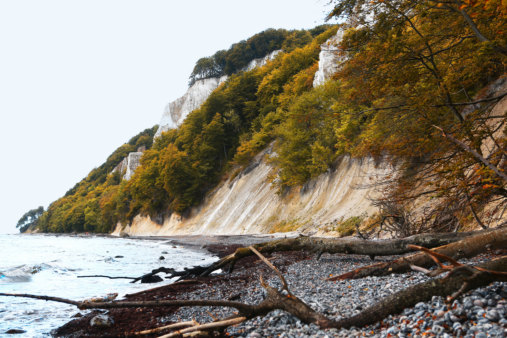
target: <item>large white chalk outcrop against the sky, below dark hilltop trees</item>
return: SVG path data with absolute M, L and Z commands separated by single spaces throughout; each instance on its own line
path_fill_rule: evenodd
M 227 80 L 227 75 L 221 78 L 209 78 L 197 80 L 190 87 L 185 95 L 167 103 L 160 119 L 159 129 L 155 134 L 155 138 L 159 137 L 163 131 L 176 128 L 190 114 L 190 112 L 204 102 L 209 94 Z

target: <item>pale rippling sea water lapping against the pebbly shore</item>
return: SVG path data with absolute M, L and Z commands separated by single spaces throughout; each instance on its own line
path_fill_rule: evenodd
M 170 240 L 108 237 L 0 235 L 0 292 L 28 293 L 74 301 L 118 292 L 127 293 L 171 283 L 130 284 L 129 279 L 77 278 L 87 275 L 139 277 L 160 267 L 181 270 L 208 265 L 216 257 L 182 247 Z M 167 254 L 162 254 L 167 251 Z M 165 260 L 159 260 L 160 256 Z M 124 256 L 115 258 L 115 256 Z M 159 274 L 161 277 L 165 275 Z M 172 281 L 177 278 L 173 278 Z M 0 337 L 17 328 L 16 337 L 49 337 L 49 331 L 70 320 L 77 307 L 40 299 L 0 296 Z

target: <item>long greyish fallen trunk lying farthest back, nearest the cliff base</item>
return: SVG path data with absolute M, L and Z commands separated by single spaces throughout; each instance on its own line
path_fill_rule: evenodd
M 507 228 L 507 227 L 506 227 Z M 442 234 L 419 234 L 403 239 L 387 241 L 367 241 L 367 240 L 348 240 L 323 237 L 308 237 L 301 235 L 297 238 L 285 238 L 276 241 L 258 243 L 254 248 L 262 253 L 273 253 L 279 251 L 309 251 L 317 254 L 317 260 L 323 253 L 335 254 L 356 254 L 367 255 L 374 259 L 375 256 L 399 255 L 414 250 L 407 249 L 407 245 L 417 245 L 428 249 L 454 243 L 461 239 L 481 235 L 491 232 L 495 229 L 486 229 L 480 231 L 470 231 L 462 233 L 442 233 Z M 234 264 L 241 258 L 253 255 L 249 248 L 239 248 L 233 254 L 226 256 L 208 267 L 199 267 L 204 272 L 200 276 L 207 276 L 215 270 L 222 269 L 229 264 L 229 272 L 234 269 Z

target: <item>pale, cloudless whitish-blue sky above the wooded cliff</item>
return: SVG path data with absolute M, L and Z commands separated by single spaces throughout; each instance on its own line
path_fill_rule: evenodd
M 269 27 L 322 24 L 325 4 L 0 0 L 0 233 L 158 124 L 199 58 Z

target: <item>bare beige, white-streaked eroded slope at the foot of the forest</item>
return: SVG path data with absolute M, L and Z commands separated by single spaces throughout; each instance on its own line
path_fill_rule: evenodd
M 162 225 L 149 216 L 137 215 L 125 228 L 133 236 L 190 234 L 252 234 L 300 231 L 314 234 L 324 224 L 352 216 L 369 216 L 376 209 L 367 199 L 373 190 L 354 189 L 368 182 L 369 174 L 383 173 L 371 161 L 363 163 L 344 157 L 333 171 L 311 180 L 302 189 L 294 188 L 277 196 L 268 181 L 270 167 L 265 163 L 272 145 L 259 154 L 231 182 L 223 182 L 188 218 L 172 214 Z M 331 226 L 328 226 L 331 228 Z M 118 224 L 113 235 L 122 229 Z M 328 233 L 329 234 L 329 233 Z

